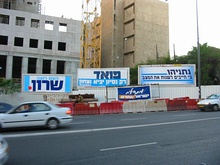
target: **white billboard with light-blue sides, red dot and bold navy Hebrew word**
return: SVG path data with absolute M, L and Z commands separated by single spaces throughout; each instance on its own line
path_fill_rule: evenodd
M 70 93 L 72 76 L 60 74 L 24 74 L 22 75 L 23 92 Z

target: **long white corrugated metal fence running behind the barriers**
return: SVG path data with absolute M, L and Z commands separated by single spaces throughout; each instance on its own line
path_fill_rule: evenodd
M 116 100 L 117 98 L 117 88 L 92 88 L 83 89 L 78 91 L 73 91 L 72 94 L 94 94 L 95 98 L 98 99 L 98 104 L 101 102 L 109 102 Z M 158 86 L 153 85 L 151 87 L 152 98 L 178 98 L 178 97 L 189 97 L 191 99 L 198 99 L 198 87 L 186 86 L 186 87 L 170 87 L 170 86 Z M 201 86 L 202 98 L 206 98 L 212 93 L 220 93 L 220 85 L 214 86 Z M 44 96 L 47 96 L 47 100 L 52 103 L 59 103 L 61 99 L 68 99 L 69 94 L 62 93 L 40 93 L 40 94 L 30 94 L 30 93 L 17 93 L 13 95 L 3 95 L 0 94 L 0 102 L 6 102 L 13 105 L 17 105 L 25 101 L 43 101 Z

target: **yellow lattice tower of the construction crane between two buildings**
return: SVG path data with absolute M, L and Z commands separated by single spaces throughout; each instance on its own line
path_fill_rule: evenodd
M 101 68 L 101 0 L 82 0 L 80 68 Z

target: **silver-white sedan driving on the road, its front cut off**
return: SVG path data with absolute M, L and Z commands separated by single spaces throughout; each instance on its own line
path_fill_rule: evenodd
M 0 114 L 0 128 L 46 126 L 56 129 L 72 121 L 71 110 L 49 102 L 25 102 Z

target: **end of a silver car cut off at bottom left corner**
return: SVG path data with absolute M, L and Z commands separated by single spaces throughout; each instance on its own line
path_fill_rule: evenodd
M 3 165 L 8 161 L 8 148 L 9 147 L 7 141 L 3 138 L 2 135 L 0 135 L 0 165 Z

